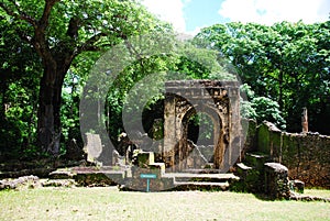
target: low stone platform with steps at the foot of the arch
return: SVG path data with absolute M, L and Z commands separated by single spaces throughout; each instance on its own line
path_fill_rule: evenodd
M 51 179 L 74 179 L 78 186 L 119 186 L 127 190 L 145 189 L 146 181 L 131 175 L 131 168 L 73 167 L 50 174 Z M 165 173 L 150 180 L 151 191 L 163 190 L 228 190 L 239 177 L 233 174 Z

